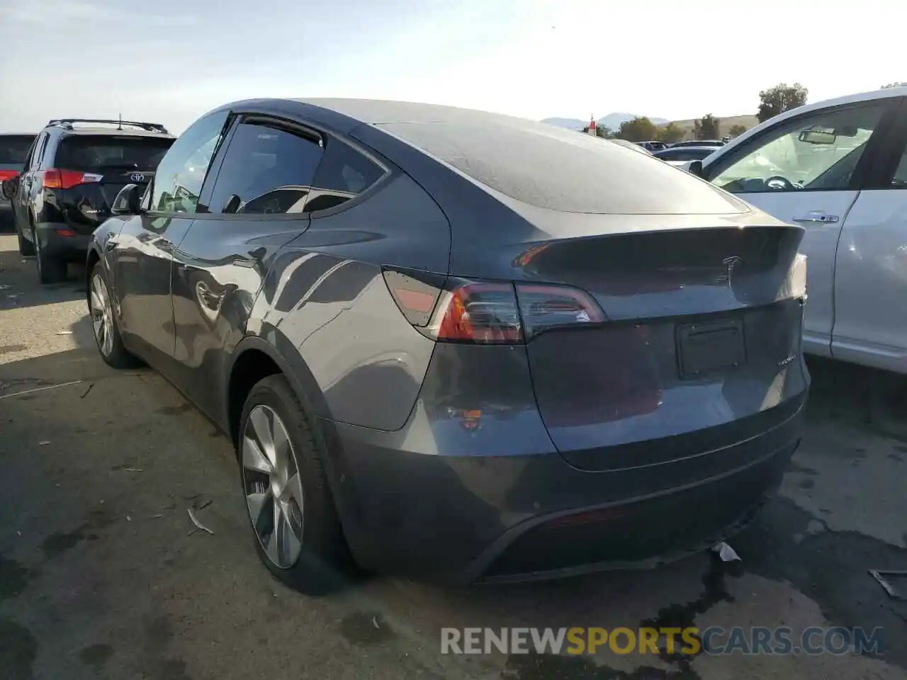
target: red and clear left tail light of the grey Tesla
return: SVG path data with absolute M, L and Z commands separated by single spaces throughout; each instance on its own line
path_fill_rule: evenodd
M 552 328 L 599 324 L 600 306 L 578 288 L 506 283 L 385 270 L 400 311 L 439 342 L 524 343 Z

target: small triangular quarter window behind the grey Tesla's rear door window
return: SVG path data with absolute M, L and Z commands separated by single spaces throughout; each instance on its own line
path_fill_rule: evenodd
M 385 169 L 343 141 L 329 139 L 305 211 L 335 208 L 371 187 Z

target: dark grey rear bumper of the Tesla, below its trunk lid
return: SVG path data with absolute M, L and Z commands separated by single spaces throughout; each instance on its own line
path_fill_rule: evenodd
M 322 429 L 363 566 L 441 582 L 519 581 L 652 567 L 727 538 L 780 484 L 805 396 L 760 414 L 755 436 L 744 423 L 734 443 L 610 471 L 578 470 L 550 440 L 535 452 L 445 455 L 407 445 L 421 439 L 407 428 Z M 511 429 L 532 430 L 522 424 Z

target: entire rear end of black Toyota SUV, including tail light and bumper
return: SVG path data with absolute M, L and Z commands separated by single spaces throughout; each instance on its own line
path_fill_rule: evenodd
M 173 141 L 160 132 L 63 132 L 53 167 L 39 171 L 36 230 L 45 252 L 63 260 L 83 259 L 94 229 L 111 216 L 120 189 L 147 186 Z

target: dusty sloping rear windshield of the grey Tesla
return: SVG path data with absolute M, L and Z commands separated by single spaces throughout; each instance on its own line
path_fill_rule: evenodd
M 553 125 L 393 122 L 378 127 L 505 196 L 539 208 L 717 214 L 746 206 L 648 153 Z

